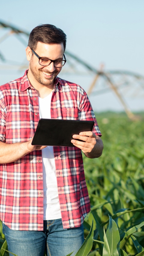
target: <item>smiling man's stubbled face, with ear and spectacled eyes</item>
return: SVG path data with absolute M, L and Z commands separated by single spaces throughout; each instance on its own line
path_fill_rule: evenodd
M 38 42 L 35 51 L 31 50 L 29 46 L 26 48 L 26 55 L 29 60 L 29 81 L 32 84 L 35 83 L 35 89 L 38 89 L 38 91 L 46 89 L 47 93 L 51 92 L 50 90 L 53 90 L 54 87 L 55 77 L 62 68 L 61 62 L 64 57 L 64 45 L 62 43 L 44 44 Z M 51 64 L 50 59 L 55 60 L 55 62 L 51 62 Z M 48 66 L 45 66 L 47 64 Z

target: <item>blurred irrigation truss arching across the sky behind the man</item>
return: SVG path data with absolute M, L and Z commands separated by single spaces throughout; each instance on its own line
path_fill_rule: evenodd
M 27 62 L 10 61 L 5 56 L 6 50 L 1 50 L 4 48 L 4 42 L 12 36 L 18 40 L 16 43 L 17 49 L 19 42 L 23 46 L 27 46 L 29 32 L 0 21 L 0 71 L 4 69 L 25 70 L 28 68 Z M 10 43 L 8 48 L 10 48 Z M 13 51 L 12 48 L 10 50 Z M 88 95 L 95 96 L 112 90 L 123 105 L 127 116 L 130 119 L 136 118 L 125 101 L 125 95 L 132 94 L 134 97 L 144 97 L 144 77 L 142 75 L 129 71 L 104 71 L 103 65 L 98 70 L 69 51 L 65 51 L 65 56 L 67 65 L 62 69 L 62 73 L 90 76 L 93 81 L 88 87 Z

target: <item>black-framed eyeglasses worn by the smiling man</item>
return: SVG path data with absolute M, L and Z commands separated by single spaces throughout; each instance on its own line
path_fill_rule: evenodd
M 61 60 L 61 59 L 52 60 L 52 59 L 46 59 L 46 58 L 43 58 L 43 57 L 38 56 L 38 54 L 35 53 L 34 50 L 32 50 L 32 52 L 35 54 L 35 56 L 38 57 L 38 59 L 39 59 L 39 64 L 40 64 L 41 66 L 49 66 L 50 63 L 53 62 L 53 65 L 54 65 L 55 68 L 62 68 L 62 67 L 64 66 L 65 62 L 66 62 L 65 56 L 64 56 L 64 59 L 62 59 L 62 60 Z

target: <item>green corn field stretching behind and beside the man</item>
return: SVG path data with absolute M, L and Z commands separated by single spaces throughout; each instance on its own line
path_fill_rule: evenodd
M 83 155 L 91 212 L 75 256 L 144 255 L 144 113 L 139 116 L 96 114 L 104 151 L 97 159 Z M 0 236 L 0 256 L 7 256 L 1 223 Z

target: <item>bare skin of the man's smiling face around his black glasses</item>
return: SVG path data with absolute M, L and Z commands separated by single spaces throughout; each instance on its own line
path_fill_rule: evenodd
M 35 52 L 43 58 L 51 60 L 63 59 L 64 46 L 63 44 L 44 44 L 38 42 Z M 61 68 L 55 68 L 53 62 L 49 66 L 41 66 L 35 54 L 32 54 L 29 60 L 28 77 L 30 81 L 37 81 L 44 86 L 54 86 L 55 77 L 59 74 Z

